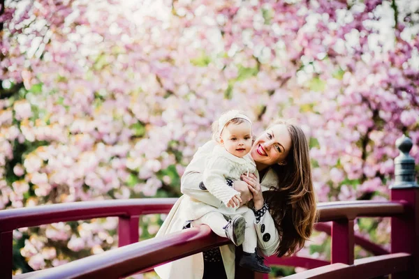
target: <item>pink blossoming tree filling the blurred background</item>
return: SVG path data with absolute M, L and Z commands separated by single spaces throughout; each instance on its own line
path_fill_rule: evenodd
M 402 134 L 419 160 L 409 1 L 21 0 L 3 3 L 0 28 L 0 209 L 179 196 L 230 107 L 256 133 L 277 117 L 304 128 L 321 202 L 388 198 Z M 111 248 L 115 226 L 15 231 L 16 269 Z M 355 229 L 386 241 L 385 222 Z

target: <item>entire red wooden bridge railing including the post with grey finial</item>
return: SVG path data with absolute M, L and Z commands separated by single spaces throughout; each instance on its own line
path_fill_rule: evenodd
M 268 264 L 303 266 L 309 271 L 289 278 L 374 278 L 392 274 L 394 278 L 419 278 L 419 187 L 414 175 L 414 160 L 409 157 L 411 143 L 399 143 L 395 184 L 389 202 L 354 201 L 318 204 L 316 229 L 332 237 L 331 262 L 307 257 L 269 257 Z M 15 276 L 21 278 L 123 278 L 144 272 L 207 248 L 228 243 L 207 226 L 185 229 L 138 243 L 139 216 L 167 213 L 175 199 L 128 199 L 101 202 L 75 202 L 0 211 L 0 278 L 11 278 L 12 231 L 68 220 L 86 220 L 106 216 L 119 217 L 119 246 L 100 255 L 44 271 Z M 390 217 L 391 251 L 367 241 L 353 232 L 355 218 Z M 325 222 L 332 222 L 329 226 Z M 132 243 L 132 244 L 129 244 Z M 373 252 L 374 257 L 355 259 L 355 243 Z M 129 244 L 129 245 L 127 245 Z M 236 278 L 267 278 L 260 273 L 236 272 Z

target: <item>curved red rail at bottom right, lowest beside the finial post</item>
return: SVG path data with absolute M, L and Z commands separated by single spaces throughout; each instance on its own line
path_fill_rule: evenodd
M 287 279 L 352 279 L 374 278 L 392 273 L 408 271 L 412 264 L 412 256 L 407 253 L 396 253 L 355 259 L 353 265 L 330 264 L 286 277 Z

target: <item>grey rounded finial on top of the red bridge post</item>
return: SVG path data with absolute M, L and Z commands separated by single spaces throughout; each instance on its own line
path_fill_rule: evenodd
M 390 189 L 419 188 L 416 183 L 415 159 L 409 155 L 412 140 L 403 135 L 396 140 L 396 146 L 400 155 L 395 158 L 395 183 Z

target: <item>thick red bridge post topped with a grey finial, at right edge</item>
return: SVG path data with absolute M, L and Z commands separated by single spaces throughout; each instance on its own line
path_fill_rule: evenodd
M 392 201 L 404 201 L 407 212 L 391 218 L 391 252 L 408 252 L 413 257 L 411 270 L 394 278 L 419 278 L 419 186 L 415 160 L 409 156 L 413 143 L 403 136 L 396 141 L 400 155 L 395 158 L 395 183 L 390 186 Z

